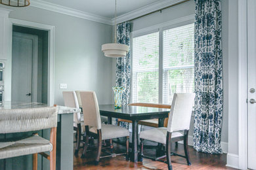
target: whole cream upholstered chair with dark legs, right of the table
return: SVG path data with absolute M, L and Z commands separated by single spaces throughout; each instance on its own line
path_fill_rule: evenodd
M 167 127 L 158 127 L 140 132 L 140 158 L 150 158 L 152 160 L 160 160 L 163 158 L 151 158 L 143 155 L 143 141 L 144 139 L 154 141 L 157 143 L 166 144 L 166 157 L 168 169 L 172 169 L 171 165 L 171 143 L 177 141 L 184 142 L 184 152 L 188 165 L 191 165 L 188 154 L 188 129 L 190 127 L 190 119 L 192 108 L 194 105 L 194 93 L 175 93 L 173 102 L 171 104 L 171 112 Z M 179 154 L 172 153 L 175 156 Z

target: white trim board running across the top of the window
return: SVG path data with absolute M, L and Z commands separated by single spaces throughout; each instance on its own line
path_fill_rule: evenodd
M 156 24 L 156 25 L 152 25 L 150 27 L 145 27 L 145 28 L 131 32 L 131 34 L 132 34 L 131 37 L 132 38 L 138 37 L 140 35 L 144 35 L 145 33 L 147 34 L 147 33 L 150 33 L 151 31 L 155 31 L 155 30 L 156 30 L 155 32 L 157 32 L 158 29 L 160 29 L 160 28 L 163 28 L 163 30 L 164 30 L 164 29 L 169 29 L 171 27 L 179 27 L 181 25 L 192 24 L 192 23 L 194 23 L 194 18 L 195 18 L 195 15 L 192 14 L 192 15 L 177 18 L 175 20 L 171 20 L 168 22 L 163 22 L 161 24 Z

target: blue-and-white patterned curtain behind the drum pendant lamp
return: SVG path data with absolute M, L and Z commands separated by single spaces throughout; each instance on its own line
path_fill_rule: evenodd
M 116 86 L 125 88 L 122 97 L 122 104 L 129 104 L 130 82 L 131 82 L 131 56 L 130 56 L 130 22 L 123 22 L 117 25 L 117 43 L 127 44 L 129 52 L 127 56 L 116 59 Z

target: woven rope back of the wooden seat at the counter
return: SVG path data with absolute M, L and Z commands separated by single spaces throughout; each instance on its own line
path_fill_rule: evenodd
M 57 127 L 57 107 L 0 110 L 0 133 L 37 131 Z

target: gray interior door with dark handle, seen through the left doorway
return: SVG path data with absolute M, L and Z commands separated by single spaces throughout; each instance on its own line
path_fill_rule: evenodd
M 12 101 L 37 101 L 38 39 L 34 35 L 14 32 L 12 35 Z

